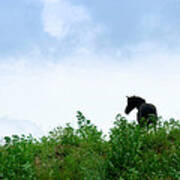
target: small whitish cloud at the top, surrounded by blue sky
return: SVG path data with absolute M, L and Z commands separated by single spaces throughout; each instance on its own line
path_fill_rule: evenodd
M 100 31 L 84 6 L 67 0 L 44 0 L 42 18 L 44 31 L 60 40 L 71 37 L 84 41 Z

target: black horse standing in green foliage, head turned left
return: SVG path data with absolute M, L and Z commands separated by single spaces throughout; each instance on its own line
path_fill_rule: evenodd
M 138 96 L 127 97 L 127 106 L 125 113 L 129 114 L 134 108 L 137 108 L 137 121 L 141 127 L 150 123 L 156 124 L 157 110 L 153 104 L 146 103 L 145 99 Z

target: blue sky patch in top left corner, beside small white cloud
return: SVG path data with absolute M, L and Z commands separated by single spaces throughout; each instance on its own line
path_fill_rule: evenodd
M 41 39 L 42 24 L 39 3 L 28 1 L 2 1 L 0 3 L 1 56 L 25 52 Z

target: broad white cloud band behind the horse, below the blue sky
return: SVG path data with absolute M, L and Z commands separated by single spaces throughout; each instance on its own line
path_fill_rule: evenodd
M 179 118 L 179 58 L 162 50 L 134 53 L 128 61 L 86 52 L 44 66 L 29 59 L 1 64 L 0 114 L 29 119 L 47 132 L 67 122 L 75 126 L 81 110 L 107 131 L 117 113 L 124 115 L 125 96 L 135 94 L 163 117 Z M 127 118 L 135 119 L 134 113 Z

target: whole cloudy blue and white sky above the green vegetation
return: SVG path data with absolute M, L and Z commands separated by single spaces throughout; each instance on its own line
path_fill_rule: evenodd
M 179 119 L 179 0 L 0 2 L 0 136 L 42 136 L 80 110 L 108 132 L 126 96 Z

